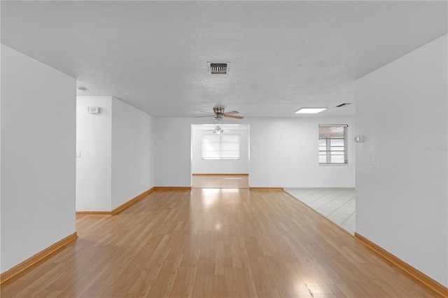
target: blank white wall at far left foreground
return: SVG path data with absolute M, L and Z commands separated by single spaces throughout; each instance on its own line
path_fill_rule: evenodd
M 76 80 L 1 45 L 1 272 L 75 232 Z

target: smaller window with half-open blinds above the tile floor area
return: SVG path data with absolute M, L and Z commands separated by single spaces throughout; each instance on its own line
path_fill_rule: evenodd
M 319 125 L 319 164 L 348 164 L 348 125 Z

